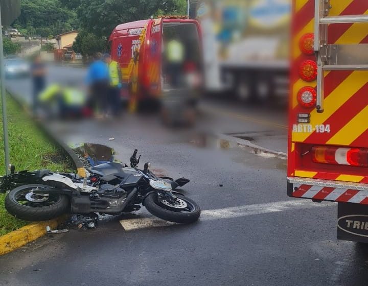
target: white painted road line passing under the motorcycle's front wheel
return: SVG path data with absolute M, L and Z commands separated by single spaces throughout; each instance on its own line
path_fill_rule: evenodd
M 292 201 L 274 202 L 266 204 L 244 205 L 237 207 L 202 210 L 201 217 L 199 220 L 203 222 L 220 219 L 232 219 L 232 218 L 254 216 L 263 213 L 328 207 L 333 205 L 335 205 L 335 203 L 333 202 L 313 203 L 310 200 L 292 200 Z M 156 217 L 153 217 L 149 213 L 139 213 L 139 216 L 140 217 L 134 219 L 121 220 L 120 223 L 126 231 L 142 228 L 176 225 L 175 223 L 166 222 Z

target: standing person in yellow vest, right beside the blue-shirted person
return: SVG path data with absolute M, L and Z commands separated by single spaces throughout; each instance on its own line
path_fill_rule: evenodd
M 104 55 L 104 61 L 109 68 L 110 88 L 108 95 L 109 111 L 117 116 L 121 111 L 120 92 L 122 89 L 122 71 L 120 64 L 111 59 L 109 54 Z

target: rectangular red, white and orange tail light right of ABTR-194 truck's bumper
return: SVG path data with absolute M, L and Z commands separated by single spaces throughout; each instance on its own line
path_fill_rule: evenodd
M 368 149 L 315 146 L 312 148 L 315 163 L 368 167 Z

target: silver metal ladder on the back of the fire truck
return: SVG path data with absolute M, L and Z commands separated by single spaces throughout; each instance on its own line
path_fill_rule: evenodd
M 338 1 L 338 0 L 335 0 Z M 368 70 L 368 44 L 329 44 L 328 26 L 368 23 L 368 15 L 329 16 L 330 0 L 315 0 L 314 52 L 317 57 L 317 112 L 324 112 L 324 71 Z

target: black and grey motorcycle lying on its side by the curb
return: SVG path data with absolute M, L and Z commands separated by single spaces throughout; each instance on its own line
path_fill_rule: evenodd
M 63 213 L 111 214 L 139 210 L 141 204 L 154 216 L 174 222 L 193 223 L 200 208 L 193 200 L 176 192 L 188 179 L 156 177 L 150 163 L 139 170 L 137 150 L 126 164 L 110 162 L 88 169 L 89 176 L 52 173 L 49 170 L 23 171 L 2 178 L 0 189 L 9 191 L 5 207 L 14 217 L 45 221 Z

